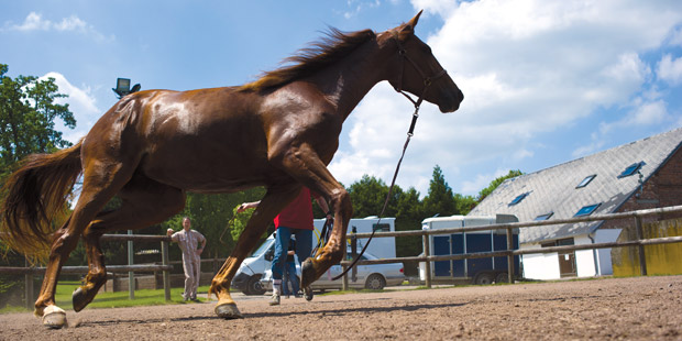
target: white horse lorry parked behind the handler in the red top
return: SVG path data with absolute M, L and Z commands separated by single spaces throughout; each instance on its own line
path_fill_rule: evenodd
M 348 233 L 355 230 L 358 233 L 395 231 L 395 218 L 382 218 L 381 221 L 376 217 L 367 217 L 360 219 L 351 219 L 348 224 Z M 320 239 L 322 228 L 324 227 L 324 219 L 315 219 L 312 224 L 315 231 L 312 235 L 312 248 L 315 248 Z M 366 239 L 358 240 L 358 252 L 364 246 Z M 395 258 L 396 256 L 396 242 L 395 237 L 376 238 L 373 239 L 367 246 L 367 252 L 378 258 Z M 234 278 L 232 279 L 232 288 L 239 289 L 246 295 L 263 295 L 265 288 L 261 284 L 261 277 L 266 270 L 272 266 L 271 261 L 275 253 L 275 238 L 271 234 L 264 242 L 256 249 L 251 256 L 246 257 L 240 265 Z M 296 262 L 300 264 L 304 260 Z

